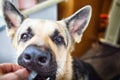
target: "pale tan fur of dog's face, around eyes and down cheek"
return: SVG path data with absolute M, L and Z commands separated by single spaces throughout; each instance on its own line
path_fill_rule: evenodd
M 31 44 L 50 47 L 56 56 L 57 64 L 59 65 L 56 75 L 57 80 L 71 80 L 72 78 L 72 58 L 70 54 L 71 48 L 73 47 L 71 44 L 72 42 L 69 42 L 67 49 L 64 46 L 60 46 L 58 48 L 49 37 L 49 35 L 53 34 L 55 29 L 58 29 L 60 34 L 65 38 L 65 42 L 67 42 L 65 36 L 65 30 L 67 31 L 67 29 L 64 26 L 65 24 L 63 22 L 26 19 L 13 37 L 13 45 L 17 49 L 18 53 L 22 53 L 25 48 Z M 26 43 L 19 42 L 20 35 L 24 33 L 28 27 L 32 28 L 35 34 L 34 37 Z M 71 37 L 68 37 L 72 41 Z

